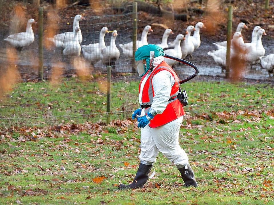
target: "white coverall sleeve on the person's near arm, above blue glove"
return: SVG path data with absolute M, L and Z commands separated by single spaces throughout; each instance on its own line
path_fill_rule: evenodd
M 154 97 L 151 108 L 156 111 L 157 114 L 161 114 L 166 109 L 170 98 L 171 87 L 174 83 L 174 77 L 167 70 L 162 70 L 153 76 L 152 86 Z

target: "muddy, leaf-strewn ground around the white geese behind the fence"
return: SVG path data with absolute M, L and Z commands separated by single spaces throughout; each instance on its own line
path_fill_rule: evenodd
M 241 1 L 239 1 L 241 2 Z M 250 22 L 247 24 L 249 30 L 243 30 L 242 35 L 244 37 L 245 42 L 250 42 L 251 40 L 251 33 L 254 26 L 259 25 L 265 29 L 267 36 L 263 36 L 262 42 L 265 48 L 265 55 L 274 53 L 274 22 L 273 22 L 273 4 L 270 5 L 270 10 L 266 11 L 263 9 L 263 4 L 261 3 L 258 6 L 256 4 L 247 4 L 247 3 L 239 3 L 238 1 L 234 3 L 233 10 L 233 30 L 235 31 L 237 24 L 241 20 L 245 20 Z M 197 5 L 193 5 L 197 6 Z M 48 8 L 48 9 L 47 9 Z M 82 31 L 83 42 L 82 44 L 89 44 L 89 43 L 97 43 L 98 42 L 98 35 L 99 31 L 103 26 L 108 27 L 109 30 L 116 29 L 118 31 L 118 37 L 116 39 L 116 45 L 120 50 L 120 59 L 116 62 L 116 68 L 113 70 L 114 72 L 126 72 L 131 71 L 130 60 L 126 59 L 123 54 L 122 50 L 119 48 L 119 44 L 124 44 L 130 42 L 132 39 L 132 18 L 129 13 L 118 13 L 113 11 L 110 8 L 110 5 L 104 5 L 99 9 L 92 9 L 87 6 L 74 6 L 68 7 L 65 9 L 55 10 L 56 15 L 49 17 L 49 9 L 50 5 L 45 5 L 45 13 L 44 13 L 44 34 L 48 32 L 51 24 L 49 24 L 50 19 L 56 19 L 57 25 L 59 27 L 57 33 L 65 32 L 65 31 L 72 31 L 72 22 L 73 18 L 76 14 L 82 14 L 86 21 L 80 22 L 80 28 Z M 204 76 L 203 79 L 219 79 L 224 77 L 224 73 L 221 73 L 221 68 L 215 64 L 211 56 L 207 55 L 208 51 L 216 50 L 215 46 L 212 42 L 223 41 L 226 39 L 226 19 L 225 11 L 227 5 L 222 6 L 219 9 L 219 13 L 224 13 L 224 15 L 217 15 L 214 18 L 216 13 L 205 13 L 203 15 L 196 14 L 192 15 L 189 19 L 189 22 L 182 22 L 180 20 L 170 20 L 165 19 L 164 17 L 157 17 L 155 15 L 151 15 L 144 12 L 138 13 L 138 40 L 140 40 L 142 28 L 145 25 L 152 24 L 152 23 L 161 23 L 165 24 L 169 28 L 171 28 L 174 32 L 174 35 L 169 37 L 169 41 L 172 41 L 177 34 L 182 33 L 184 28 L 188 25 L 194 25 L 202 21 L 207 26 L 207 29 L 201 30 L 201 46 L 194 51 L 193 58 L 190 60 L 191 62 L 198 65 L 200 69 L 200 76 Z M 272 9 L 271 9 L 272 8 Z M 31 5 L 26 5 L 24 7 L 25 17 L 28 18 L 36 18 L 37 19 L 37 9 L 31 7 Z M 13 15 L 13 12 L 11 12 Z M 221 16 L 221 18 L 220 18 Z M 0 62 L 2 63 L 1 68 L 5 69 L 7 64 L 6 59 L 6 49 L 9 45 L 3 41 L 3 39 L 9 34 L 10 27 L 13 22 L 10 21 L 12 18 L 3 18 L 2 21 L 5 22 L 8 26 L 2 26 L 0 31 Z M 5 20 L 5 21 L 4 21 Z M 161 42 L 162 34 L 164 32 L 164 28 L 161 26 L 152 26 L 154 32 L 148 34 L 148 43 L 157 44 Z M 22 26 L 21 30 L 25 30 Z M 34 25 L 33 30 L 35 33 L 35 41 L 31 44 L 28 48 L 25 48 L 22 51 L 16 51 L 14 56 L 17 56 L 17 67 L 20 70 L 21 77 L 23 80 L 27 79 L 37 79 L 37 66 L 38 66 L 38 26 Z M 110 35 L 106 34 L 105 42 L 106 45 L 110 42 Z M 44 48 L 44 69 L 45 73 L 44 76 L 46 78 L 50 77 L 51 75 L 51 67 L 53 63 L 56 62 L 63 62 L 64 73 L 63 75 L 71 75 L 73 71 L 73 67 L 70 63 L 71 58 L 62 56 L 62 50 L 59 48 Z M 249 67 L 249 65 L 247 65 Z M 105 72 L 106 68 L 102 66 L 101 62 L 95 64 L 93 68 L 93 72 L 100 71 Z M 183 65 L 177 65 L 176 71 L 179 72 L 181 75 L 188 75 L 192 73 L 191 68 L 187 68 Z M 264 69 L 260 69 L 260 66 L 257 65 L 256 69 L 250 70 L 246 69 L 244 71 L 245 78 L 248 79 L 260 79 L 260 80 L 272 80 L 273 78 L 269 78 L 268 73 Z M 201 77 L 200 77 L 201 78 Z

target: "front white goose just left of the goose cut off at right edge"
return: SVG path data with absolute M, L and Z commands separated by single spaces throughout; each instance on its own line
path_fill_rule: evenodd
M 255 64 L 261 56 L 265 55 L 265 48 L 262 44 L 263 35 L 266 36 L 265 30 L 260 28 L 257 32 L 256 43 L 251 43 L 251 46 L 245 50 L 245 61 L 247 63 Z

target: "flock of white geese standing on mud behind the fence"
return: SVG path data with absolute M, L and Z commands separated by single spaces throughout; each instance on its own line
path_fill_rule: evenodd
M 108 33 L 108 28 L 103 27 L 99 34 L 99 43 L 93 43 L 88 45 L 80 45 L 82 43 L 82 33 L 79 26 L 80 20 L 85 20 L 82 15 L 78 14 L 74 17 L 73 21 L 73 31 L 64 32 L 53 36 L 53 38 L 48 38 L 47 40 L 51 41 L 56 47 L 63 48 L 63 55 L 66 56 L 79 56 L 82 50 L 83 57 L 88 60 L 92 65 L 102 61 L 104 65 L 115 65 L 115 61 L 120 57 L 120 51 L 116 47 L 115 40 L 118 36 L 116 30 L 111 31 L 112 36 L 110 40 L 110 45 L 106 46 L 104 42 L 105 34 Z M 29 19 L 27 22 L 26 32 L 21 32 L 17 34 L 11 34 L 4 40 L 9 42 L 14 47 L 26 47 L 29 46 L 34 41 L 34 33 L 31 25 L 36 23 L 34 19 Z M 186 56 L 191 56 L 195 49 L 199 48 L 201 44 L 200 40 L 200 29 L 205 28 L 202 22 L 198 22 L 196 26 L 188 26 L 186 28 L 185 36 L 183 34 L 178 34 L 173 42 L 168 43 L 168 36 L 174 34 L 171 29 L 166 29 L 162 42 L 159 45 L 164 49 L 164 52 L 168 55 L 177 57 L 177 58 L 186 58 Z M 260 26 L 255 26 L 252 32 L 252 39 L 250 43 L 245 43 L 243 41 L 243 36 L 241 31 L 247 26 L 241 22 L 237 26 L 237 30 L 233 35 L 231 40 L 231 57 L 233 55 L 239 55 L 239 52 L 236 51 L 236 48 L 241 48 L 244 52 L 240 53 L 241 60 L 252 64 L 261 62 L 261 66 L 269 72 L 273 72 L 274 68 L 274 54 L 268 56 L 265 55 L 265 49 L 262 44 L 262 36 L 266 35 L 265 30 Z M 153 32 L 150 25 L 144 27 L 142 32 L 141 40 L 137 40 L 136 47 L 147 45 L 147 35 L 148 32 Z M 191 33 L 193 36 L 191 36 Z M 226 61 L 226 41 L 224 42 L 215 42 L 213 43 L 217 46 L 218 50 L 213 50 L 207 54 L 212 56 L 214 61 L 218 63 L 222 70 L 225 68 Z M 119 44 L 124 56 L 132 57 L 132 47 L 133 42 L 126 44 Z M 171 59 L 165 59 L 170 66 L 175 65 L 176 61 Z

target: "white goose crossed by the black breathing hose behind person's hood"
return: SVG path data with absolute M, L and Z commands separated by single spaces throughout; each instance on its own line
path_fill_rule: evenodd
M 182 58 L 182 50 L 181 50 L 181 41 L 182 40 L 185 40 L 184 35 L 183 34 L 178 34 L 176 36 L 176 39 L 174 40 L 174 42 L 175 42 L 174 48 L 164 50 L 164 53 L 168 54 L 170 56 L 174 56 L 176 58 Z M 175 60 L 172 60 L 172 59 L 169 59 L 169 58 L 165 58 L 165 61 L 169 66 L 173 66 L 176 63 L 178 63 L 178 61 L 175 61 Z

